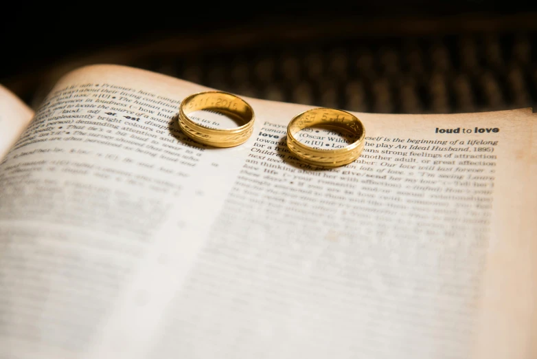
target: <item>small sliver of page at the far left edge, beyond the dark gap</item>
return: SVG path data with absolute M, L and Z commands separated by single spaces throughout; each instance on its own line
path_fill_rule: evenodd
M 34 111 L 0 85 L 0 160 L 30 123 Z

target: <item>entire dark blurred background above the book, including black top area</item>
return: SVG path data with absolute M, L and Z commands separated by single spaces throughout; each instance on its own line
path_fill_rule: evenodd
M 1 31 L 0 83 L 34 109 L 92 63 L 351 111 L 537 107 L 537 6 L 516 0 L 21 2 Z

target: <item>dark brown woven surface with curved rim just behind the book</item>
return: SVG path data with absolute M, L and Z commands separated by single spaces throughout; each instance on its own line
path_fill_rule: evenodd
M 36 108 L 71 69 L 117 63 L 245 96 L 375 113 L 536 107 L 537 21 L 531 14 L 406 17 L 160 32 L 69 55 L 4 85 Z

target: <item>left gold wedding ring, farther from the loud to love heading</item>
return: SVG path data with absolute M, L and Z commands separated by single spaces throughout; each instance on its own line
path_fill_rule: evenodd
M 198 110 L 215 111 L 242 124 L 234 129 L 214 129 L 198 124 L 188 114 Z M 192 94 L 179 105 L 179 127 L 196 142 L 215 147 L 233 147 L 243 144 L 253 132 L 253 109 L 242 98 L 222 91 Z

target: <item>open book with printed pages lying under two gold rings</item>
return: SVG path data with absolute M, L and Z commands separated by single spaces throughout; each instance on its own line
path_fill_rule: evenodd
M 321 170 L 286 149 L 304 105 L 189 140 L 203 90 L 84 67 L 30 124 L 1 95 L 0 358 L 537 358 L 531 109 L 354 113 Z

